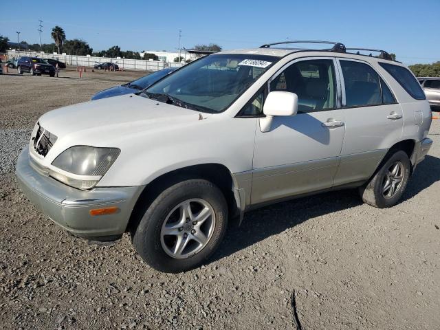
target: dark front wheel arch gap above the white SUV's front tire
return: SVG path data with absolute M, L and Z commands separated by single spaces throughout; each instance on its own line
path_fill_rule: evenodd
M 231 216 L 240 212 L 242 209 L 241 204 L 244 203 L 244 201 L 241 200 L 240 195 L 236 193 L 238 184 L 228 167 L 217 163 L 185 166 L 163 173 L 146 184 L 131 212 L 131 217 L 126 226 L 126 232 L 131 232 L 137 227 L 148 206 L 164 189 L 185 179 L 196 178 L 207 179 L 220 188 L 228 203 L 228 210 Z

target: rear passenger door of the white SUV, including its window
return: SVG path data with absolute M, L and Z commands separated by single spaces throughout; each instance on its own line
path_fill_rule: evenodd
M 334 185 L 365 181 L 398 142 L 403 112 L 391 89 L 364 61 L 339 58 L 345 136 Z

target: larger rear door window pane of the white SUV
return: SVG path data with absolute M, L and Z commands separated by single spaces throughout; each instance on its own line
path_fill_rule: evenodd
M 355 61 L 340 60 L 340 64 L 344 75 L 346 107 L 382 104 L 379 74 L 372 67 Z

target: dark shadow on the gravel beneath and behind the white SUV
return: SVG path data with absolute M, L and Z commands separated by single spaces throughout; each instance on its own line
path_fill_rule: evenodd
M 436 170 L 438 169 L 438 170 Z M 440 159 L 426 156 L 412 175 L 401 201 L 406 201 L 422 190 L 440 181 Z M 243 223 L 230 221 L 228 232 L 213 261 L 230 256 L 268 237 L 294 228 L 309 219 L 325 214 L 360 206 L 362 199 L 357 189 L 335 190 L 320 195 L 283 201 L 271 206 L 245 213 Z

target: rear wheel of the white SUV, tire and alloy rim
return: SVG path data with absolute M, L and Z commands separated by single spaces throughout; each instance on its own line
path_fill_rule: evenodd
M 359 188 L 359 193 L 364 203 L 375 208 L 391 208 L 404 194 L 409 178 L 410 159 L 404 151 L 396 151 L 384 159 L 369 182 Z

